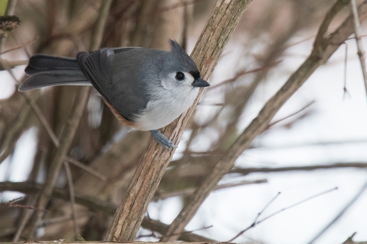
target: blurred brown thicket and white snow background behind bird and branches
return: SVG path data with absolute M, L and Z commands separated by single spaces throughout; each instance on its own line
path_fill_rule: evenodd
M 171 223 L 215 159 L 302 64 L 335 1 L 252 2 L 230 38 L 209 80 L 211 86 L 204 91 L 148 207 L 147 217 L 156 222 L 143 222 L 137 240 L 157 241 L 164 234 L 164 225 L 159 229 L 157 223 Z M 26 99 L 17 91 L 25 79 L 25 65 L 15 66 L 18 63 L 11 61 L 26 60 L 36 53 L 75 57 L 79 51 L 90 50 L 101 3 L 14 2 L 14 15 L 21 22 L 1 42 L 0 200 L 6 203 L 22 197 L 15 203 L 33 206 L 57 149 L 29 104 L 34 102 L 40 108 L 43 119 L 59 136 L 69 123 L 79 88 L 33 90 Z M 215 2 L 115 0 L 101 46 L 169 50 L 171 38 L 190 53 Z M 349 7 L 341 11 L 330 31 L 349 12 Z M 362 24 L 361 30 L 366 34 L 366 25 Z M 367 46 L 366 38 L 362 41 Z M 360 191 L 367 178 L 367 102 L 356 53 L 355 40 L 346 41 L 279 110 L 273 119 L 277 123 L 244 151 L 220 182 L 220 189 L 211 193 L 186 226 L 190 233 L 196 230 L 193 233 L 199 239 L 195 240 L 207 237 L 229 241 L 250 226 L 258 213 L 262 212 L 257 220 L 262 220 L 299 203 L 233 241 L 307 243 Z M 149 132 L 127 133 L 97 93 L 91 92 L 67 158 L 76 198 L 84 197 L 84 202 L 77 199 L 75 219 L 85 240 L 103 238 L 113 216 L 110 207 L 119 204 L 149 136 Z M 76 165 L 80 163 L 84 168 Z M 333 190 L 335 187 L 338 189 Z M 37 227 L 35 240 L 75 239 L 65 168 L 58 175 L 56 188 L 59 194 L 52 195 L 47 204 L 48 213 Z M 96 199 L 105 203 L 105 208 L 96 208 L 92 204 L 98 202 Z M 366 204 L 364 192 L 315 243 L 343 243 L 354 232 L 353 240 L 366 241 Z M 33 211 L 38 210 L 0 205 L 0 241 L 27 240 L 28 226 L 19 229 Z

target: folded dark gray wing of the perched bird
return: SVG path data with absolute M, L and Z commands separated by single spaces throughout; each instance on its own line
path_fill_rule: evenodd
M 103 98 L 126 120 L 134 122 L 136 115 L 146 108 L 149 99 L 145 93 L 137 93 L 140 90 L 137 87 L 142 84 L 131 84 L 137 81 L 135 72 L 132 72 L 136 57 L 124 55 L 125 51 L 131 49 L 134 48 L 102 48 L 91 53 L 79 52 L 76 59 L 84 75 Z

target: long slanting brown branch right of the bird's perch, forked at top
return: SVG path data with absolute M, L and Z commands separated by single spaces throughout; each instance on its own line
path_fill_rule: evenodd
M 185 206 L 174 219 L 167 235 L 174 232 L 181 232 L 186 224 L 190 221 L 201 203 L 207 198 L 212 189 L 218 184 L 219 180 L 230 171 L 236 159 L 243 153 L 244 150 L 250 147 L 252 140 L 261 134 L 270 123 L 275 113 L 280 107 L 291 97 L 292 94 L 308 79 L 308 77 L 339 48 L 342 42 L 352 34 L 352 18 L 349 16 L 347 20 L 333 34 L 325 37 L 326 31 L 334 16 L 346 5 L 348 1 L 337 1 L 330 11 L 325 16 L 321 24 L 313 50 L 305 62 L 294 72 L 281 87 L 277 93 L 266 102 L 259 115 L 248 125 L 232 146 L 219 159 L 212 168 L 211 172 L 201 182 L 201 185 L 196 190 L 195 194 L 186 202 Z M 360 18 L 364 20 L 367 15 L 367 2 L 360 7 Z M 331 45 L 329 45 L 331 44 Z M 337 44 L 337 45 L 335 45 Z M 173 241 L 174 237 L 162 238 L 162 241 Z

